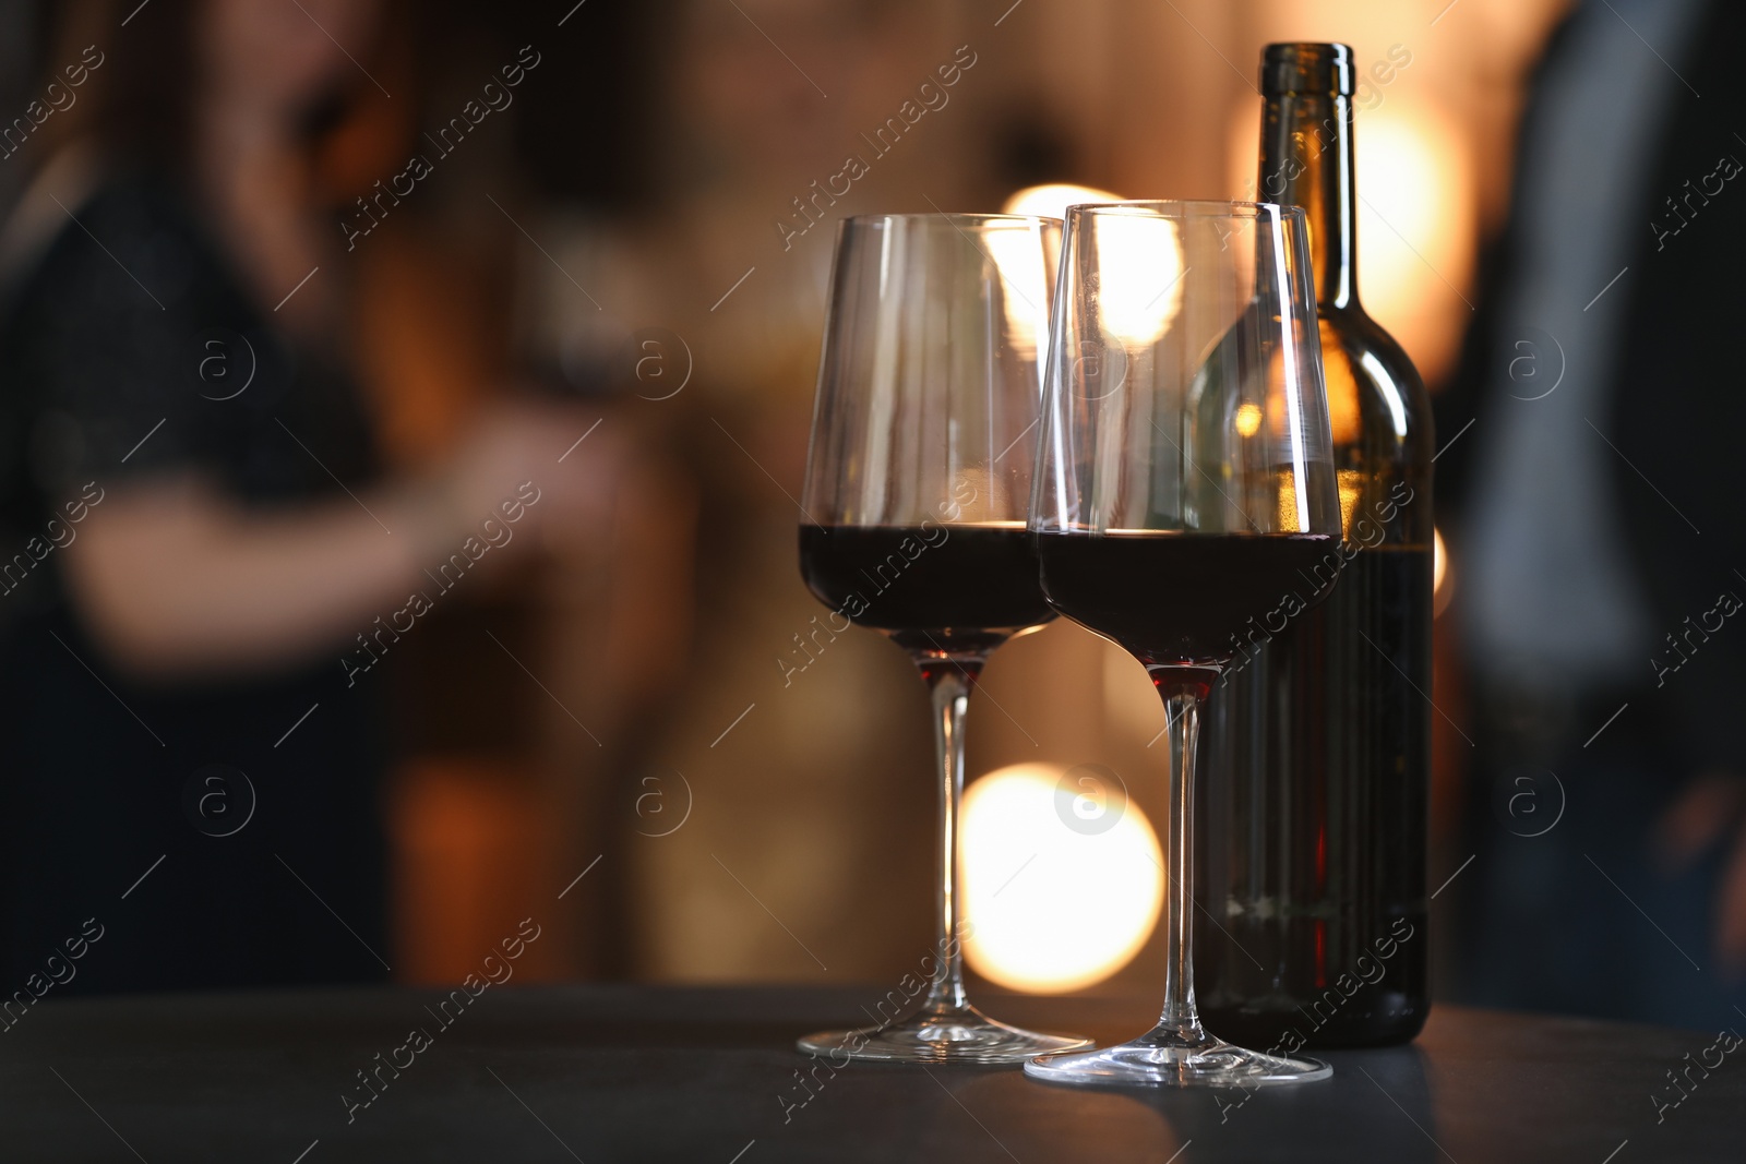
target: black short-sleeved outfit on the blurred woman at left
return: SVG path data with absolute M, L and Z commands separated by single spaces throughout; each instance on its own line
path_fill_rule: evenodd
M 0 996 L 42 993 L 91 918 L 105 937 L 56 993 L 379 977 L 384 761 L 344 646 L 140 681 L 61 572 L 134 478 L 344 499 L 335 476 L 372 471 L 356 393 L 271 330 L 173 187 L 115 176 L 72 215 L 0 321 Z

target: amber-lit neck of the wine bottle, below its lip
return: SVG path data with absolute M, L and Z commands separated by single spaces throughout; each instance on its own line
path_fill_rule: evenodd
M 1261 124 L 1259 197 L 1304 208 L 1316 307 L 1357 309 L 1358 195 L 1351 173 L 1351 98 L 1332 92 L 1268 96 Z

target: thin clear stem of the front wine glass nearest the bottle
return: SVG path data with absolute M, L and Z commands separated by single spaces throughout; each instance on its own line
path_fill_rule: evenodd
M 1194 921 L 1194 743 L 1200 735 L 1200 703 L 1205 688 L 1198 682 L 1172 682 L 1154 674 L 1165 696 L 1170 733 L 1170 869 L 1165 906 L 1165 1010 L 1158 1019 L 1163 1031 L 1196 1042 L 1203 1038 L 1194 1010 L 1194 948 L 1189 941 Z

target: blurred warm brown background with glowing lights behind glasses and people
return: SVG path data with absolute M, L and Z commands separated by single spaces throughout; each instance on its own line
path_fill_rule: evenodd
M 7 0 L 0 110 L 24 110 L 87 44 L 107 54 L 94 82 L 138 75 L 120 63 L 173 7 Z M 592 410 L 623 455 L 599 553 L 457 592 L 382 663 L 393 977 L 457 981 L 529 913 L 546 937 L 526 979 L 913 970 L 931 927 L 925 691 L 875 633 L 808 639 L 821 607 L 796 571 L 835 220 L 997 209 L 1042 183 L 1243 197 L 1261 47 L 1343 40 L 1392 63 L 1358 94 L 1360 286 L 1435 393 L 1507 209 L 1528 70 L 1564 7 L 402 0 L 330 37 L 347 101 L 321 136 L 339 248 L 323 277 L 347 288 L 382 464 L 440 462 L 512 393 Z M 443 136 L 533 58 L 510 105 Z M 924 94 L 945 65 L 957 82 Z M 875 143 L 887 119 L 903 133 Z M 47 138 L 9 140 L 7 206 Z M 430 162 L 416 192 L 361 209 L 414 154 Z M 866 173 L 833 195 L 850 155 Z M 1461 578 L 1442 565 L 1440 609 Z M 1442 625 L 1435 700 L 1463 721 Z M 973 972 L 1151 995 L 1163 712 L 1144 672 L 1056 621 L 993 658 L 974 705 Z M 1433 885 L 1467 852 L 1465 752 L 1439 740 Z M 1020 864 L 1027 829 L 1058 829 L 1048 791 L 1076 764 L 1119 775 L 1131 827 Z

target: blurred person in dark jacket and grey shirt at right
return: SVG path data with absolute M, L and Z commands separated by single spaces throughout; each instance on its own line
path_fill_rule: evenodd
M 1439 417 L 1477 716 L 1461 1002 L 1746 1000 L 1743 35 L 1720 0 L 1584 2 L 1533 79 Z

